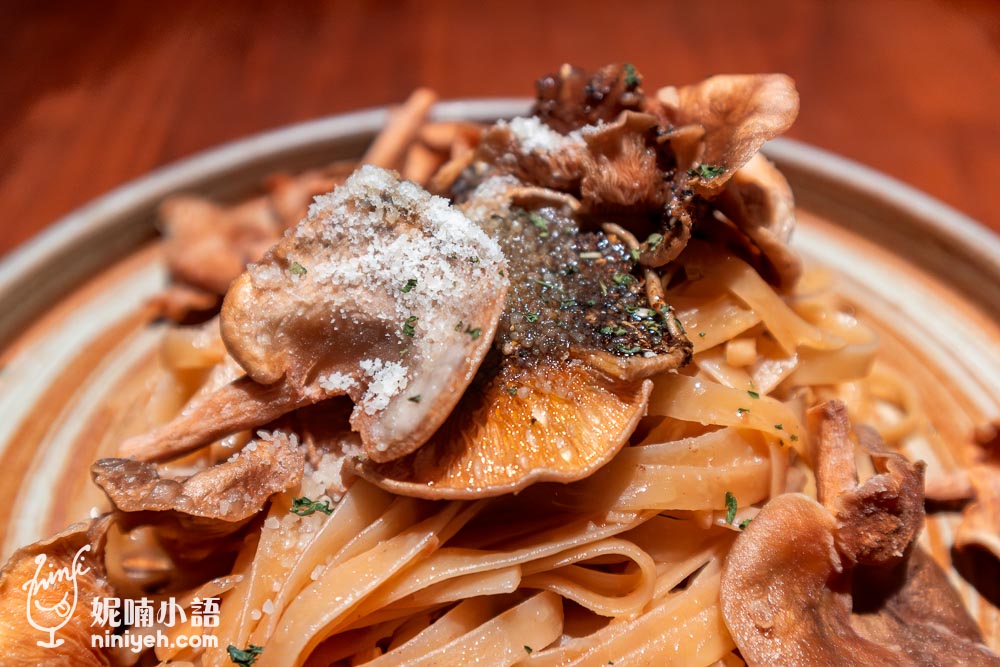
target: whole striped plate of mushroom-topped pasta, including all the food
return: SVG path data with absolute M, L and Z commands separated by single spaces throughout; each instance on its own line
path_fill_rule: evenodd
M 1000 240 L 783 75 L 536 89 L 0 266 L 4 664 L 1000 664 Z

